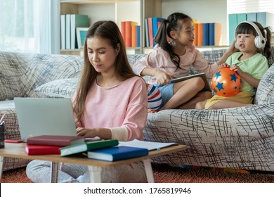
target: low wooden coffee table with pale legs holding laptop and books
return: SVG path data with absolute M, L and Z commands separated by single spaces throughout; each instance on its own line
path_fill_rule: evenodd
M 159 155 L 165 155 L 174 153 L 177 151 L 183 151 L 187 148 L 185 145 L 170 146 L 167 148 L 161 148 L 160 150 L 149 151 L 149 154 L 143 157 L 131 158 L 126 160 L 118 160 L 114 162 L 107 162 L 101 160 L 93 160 L 89 158 L 72 158 L 61 157 L 60 155 L 27 155 L 25 153 L 25 143 L 12 144 L 5 143 L 5 148 L 0 148 L 0 173 L 2 174 L 4 157 L 7 158 L 23 158 L 29 160 L 48 160 L 51 161 L 51 182 L 56 183 L 58 181 L 58 163 L 77 163 L 80 165 L 88 165 L 90 181 L 99 183 L 101 182 L 100 172 L 102 167 L 115 167 L 117 165 L 134 163 L 143 160 L 145 165 L 145 173 L 148 178 L 148 182 L 154 183 L 154 177 L 150 158 L 157 157 Z M 1 179 L 0 174 L 0 179 Z

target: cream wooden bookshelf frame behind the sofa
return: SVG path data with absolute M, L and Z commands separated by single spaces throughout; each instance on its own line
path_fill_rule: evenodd
M 140 47 L 128 47 L 126 52 L 129 54 L 148 53 L 152 48 L 145 47 L 145 18 L 159 17 L 167 18 L 170 13 L 176 11 L 183 12 L 195 19 L 199 19 L 200 23 L 214 22 L 216 15 L 196 15 L 191 6 L 188 4 L 200 4 L 202 0 L 195 1 L 178 1 L 178 0 L 60 0 L 60 14 L 79 13 L 89 15 L 89 25 L 97 20 L 114 20 L 121 30 L 121 22 L 125 20 L 132 20 L 138 22 L 140 25 Z M 207 7 L 212 7 L 213 0 Z M 211 2 L 212 1 L 212 2 Z M 216 4 L 216 1 L 214 1 Z M 223 37 L 226 37 L 226 1 L 220 1 L 218 6 L 218 13 L 222 13 L 220 18 L 222 20 L 216 21 L 222 23 Z M 204 5 L 200 5 L 200 9 L 204 9 Z M 204 13 L 196 8 L 197 13 Z M 217 14 L 218 14 L 217 13 Z M 207 18 L 205 18 L 207 17 Z M 204 21 L 203 21 L 204 20 Z M 224 39 L 223 39 L 224 40 Z M 226 45 L 226 42 L 223 42 Z M 225 46 L 226 47 L 226 46 Z M 204 47 L 198 47 L 204 49 Z M 214 49 L 214 46 L 207 46 L 206 49 Z M 79 55 L 81 49 L 65 49 L 60 50 L 63 54 Z

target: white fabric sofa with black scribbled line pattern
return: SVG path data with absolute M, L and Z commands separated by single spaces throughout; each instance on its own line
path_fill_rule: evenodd
M 209 64 L 224 52 L 225 49 L 202 51 Z M 133 65 L 144 56 L 128 55 L 129 63 Z M 274 52 L 268 63 L 273 65 Z M 81 56 L 0 52 L 0 113 L 6 113 L 5 139 L 20 138 L 14 97 L 71 98 L 82 64 Z M 197 73 L 194 68 L 189 72 Z M 221 110 L 172 109 L 149 113 L 143 130 L 145 141 L 188 146 L 185 151 L 162 155 L 152 162 L 273 172 L 274 66 L 263 75 L 254 103 Z M 28 162 L 4 158 L 3 170 Z

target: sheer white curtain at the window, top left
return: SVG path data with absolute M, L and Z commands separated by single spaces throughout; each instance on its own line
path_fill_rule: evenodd
M 60 53 L 60 0 L 0 0 L 0 50 Z

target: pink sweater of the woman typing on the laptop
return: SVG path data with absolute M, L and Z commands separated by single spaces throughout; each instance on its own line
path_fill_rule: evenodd
M 86 96 L 86 111 L 78 126 L 110 128 L 112 139 L 119 141 L 143 140 L 147 116 L 145 81 L 141 77 L 131 77 L 110 88 L 99 87 L 94 83 Z

